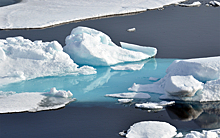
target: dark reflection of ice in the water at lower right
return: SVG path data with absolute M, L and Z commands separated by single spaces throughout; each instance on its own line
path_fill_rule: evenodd
M 166 107 L 171 119 L 194 121 L 201 128 L 220 127 L 220 102 L 176 103 Z

